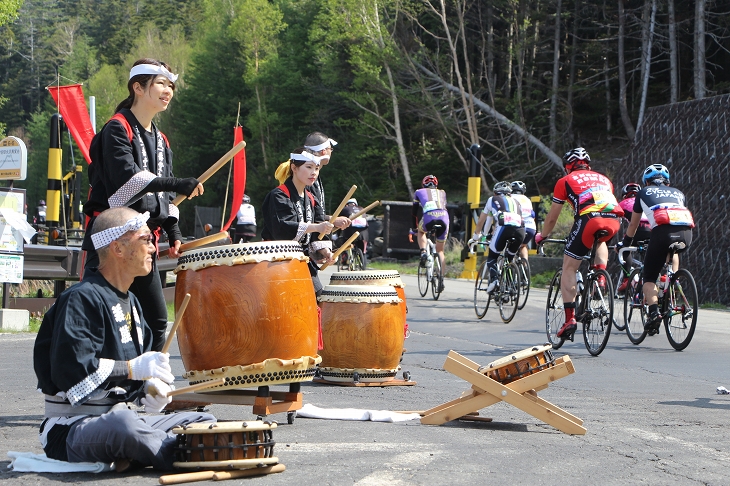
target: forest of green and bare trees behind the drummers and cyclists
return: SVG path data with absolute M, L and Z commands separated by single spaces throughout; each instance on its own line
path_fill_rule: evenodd
M 586 147 L 613 176 L 647 107 L 730 91 L 729 11 L 730 0 L 0 0 L 0 136 L 29 148 L 15 187 L 32 208 L 56 112 L 45 87 L 82 83 L 100 129 L 134 60 L 153 57 L 180 73 L 156 120 L 176 175 L 232 146 L 240 103 L 254 206 L 315 130 L 340 142 L 322 173 L 330 207 L 352 184 L 361 205 L 408 200 L 430 173 L 464 201 L 475 143 L 483 194 L 499 180 L 546 194 L 566 150 Z M 66 150 L 64 173 L 75 163 Z M 226 172 L 195 205 L 223 206 Z M 192 211 L 181 206 L 186 234 Z

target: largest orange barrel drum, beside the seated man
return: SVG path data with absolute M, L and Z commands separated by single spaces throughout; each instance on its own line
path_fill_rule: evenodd
M 317 297 L 301 245 L 241 243 L 187 251 L 175 268 L 175 304 L 190 303 L 177 332 L 183 377 L 225 378 L 206 391 L 311 381 Z

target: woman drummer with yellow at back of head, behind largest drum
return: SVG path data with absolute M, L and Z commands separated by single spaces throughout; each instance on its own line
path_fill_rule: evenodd
M 317 180 L 319 169 L 320 157 L 303 148 L 290 154 L 289 163 L 281 164 L 276 171 L 276 179 L 281 185 L 264 198 L 261 231 L 265 241 L 294 240 L 302 245 L 304 254 L 309 256 L 309 273 L 317 294 L 323 287 L 317 276 L 319 267 L 314 261 L 334 262 L 332 242 L 317 238 L 319 233 L 329 234 L 334 225 L 325 219 L 322 206 L 308 189 Z

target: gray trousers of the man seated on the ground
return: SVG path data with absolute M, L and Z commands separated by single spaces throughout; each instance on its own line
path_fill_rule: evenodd
M 111 463 L 129 459 L 142 466 L 170 470 L 175 462 L 177 440 L 170 430 L 180 425 L 215 421 L 208 413 L 148 415 L 115 407 L 99 417 L 88 417 L 71 426 L 66 439 L 68 460 Z

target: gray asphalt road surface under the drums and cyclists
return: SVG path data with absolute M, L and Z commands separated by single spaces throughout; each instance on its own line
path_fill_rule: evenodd
M 490 309 L 478 320 L 471 282 L 446 280 L 438 302 L 407 284 L 408 322 L 403 369 L 411 387 L 345 388 L 304 385 L 304 400 L 327 408 L 423 410 L 457 398 L 467 382 L 443 371 L 449 350 L 481 364 L 545 342 L 545 291 L 532 290 L 510 324 Z M 324 281 L 328 278 L 324 277 Z M 41 452 L 37 429 L 42 398 L 32 371 L 34 335 L 0 335 L 0 481 L 3 484 L 157 484 L 152 470 L 126 475 L 8 472 L 6 452 Z M 569 355 L 576 372 L 540 397 L 584 420 L 588 432 L 569 436 L 506 403 L 481 411 L 485 422 L 427 426 L 271 418 L 274 449 L 287 470 L 230 483 L 266 485 L 410 484 L 730 484 L 730 441 L 725 427 L 730 395 L 730 313 L 701 310 L 689 347 L 674 351 L 664 331 L 640 346 L 613 331 L 606 350 L 591 357 L 576 335 L 556 356 Z M 176 350 L 173 370 L 183 372 Z M 180 382 L 178 385 L 184 385 Z M 254 418 L 250 407 L 212 405 L 220 420 Z

